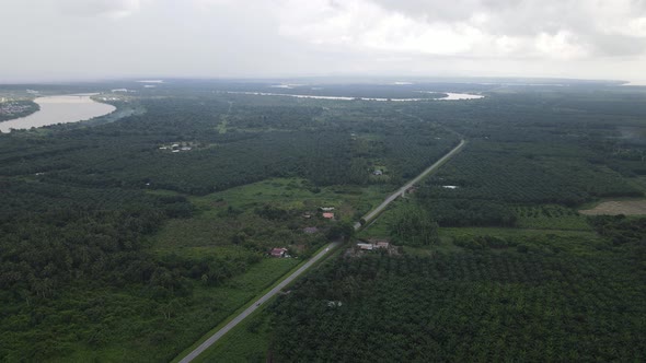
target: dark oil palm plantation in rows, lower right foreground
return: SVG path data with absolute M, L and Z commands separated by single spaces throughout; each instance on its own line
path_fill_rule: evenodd
M 621 247 L 478 237 L 455 254 L 341 259 L 276 304 L 270 353 L 279 362 L 641 361 L 639 234 Z

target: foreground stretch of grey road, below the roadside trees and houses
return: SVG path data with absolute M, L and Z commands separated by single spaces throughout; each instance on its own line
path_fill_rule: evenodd
M 277 284 L 274 289 L 272 289 L 272 291 L 266 293 L 263 297 L 256 300 L 250 307 L 247 307 L 244 312 L 240 313 L 240 315 L 238 315 L 235 318 L 233 318 L 233 320 L 229 321 L 229 324 L 227 324 L 222 329 L 216 331 L 216 333 L 210 336 L 205 342 L 199 344 L 199 347 L 197 347 L 194 351 L 192 351 L 186 356 L 184 356 L 184 359 L 182 359 L 180 361 L 180 363 L 188 363 L 188 362 L 193 361 L 195 358 L 197 358 L 197 355 L 201 354 L 201 352 L 207 350 L 210 346 L 212 346 L 216 341 L 218 341 L 218 339 L 222 338 L 223 335 L 229 332 L 229 330 L 233 329 L 233 327 L 235 327 L 240 321 L 242 321 L 244 318 L 246 318 L 251 313 L 255 312 L 255 309 L 258 308 L 261 305 L 263 305 L 263 303 L 265 303 L 267 300 L 269 300 L 274 295 L 276 295 L 280 290 L 282 290 L 282 288 L 285 288 L 287 284 L 292 282 L 296 278 L 298 278 L 301 273 L 303 273 L 307 269 L 309 269 L 312 265 L 314 265 L 318 260 L 320 260 L 323 256 L 325 256 L 325 254 L 327 254 L 331 249 L 336 247 L 338 244 L 339 244 L 338 242 L 333 242 L 330 245 L 327 245 L 327 247 L 325 247 L 322 251 L 320 251 L 314 257 L 312 257 L 309 261 L 307 261 L 305 265 L 301 266 L 298 270 L 296 270 L 296 272 L 290 274 L 287 279 L 282 280 L 279 284 Z

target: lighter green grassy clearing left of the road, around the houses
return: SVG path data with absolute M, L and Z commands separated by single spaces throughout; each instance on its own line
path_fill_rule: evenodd
M 251 243 L 258 248 L 307 245 L 315 236 L 303 235 L 302 227 L 324 230 L 331 225 L 321 218 L 320 207 L 335 208 L 336 220 L 355 222 L 357 215 L 379 204 L 388 191 L 381 186 L 314 189 L 303 179 L 276 178 L 204 197 L 188 197 L 196 208 L 194 215 L 169 221 L 150 244 L 160 256 L 175 254 L 188 258 L 243 257 L 249 254 Z M 262 218 L 255 210 L 264 206 L 282 209 L 289 216 L 278 221 Z M 303 219 L 303 212 L 310 212 L 313 218 Z M 244 242 L 235 244 L 233 239 L 241 235 Z

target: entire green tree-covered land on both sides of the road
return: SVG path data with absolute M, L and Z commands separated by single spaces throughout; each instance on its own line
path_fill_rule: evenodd
M 117 112 L 0 133 L 0 361 L 172 361 L 342 237 L 231 332 L 254 347 L 204 360 L 644 360 L 646 220 L 579 210 L 643 200 L 646 92 L 119 86 L 139 89 L 44 85 L 117 97 Z M 394 247 L 356 251 L 371 238 Z

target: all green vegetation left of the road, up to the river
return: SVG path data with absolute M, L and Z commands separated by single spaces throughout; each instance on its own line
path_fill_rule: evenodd
M 373 199 L 457 142 L 362 102 L 127 97 L 118 120 L 0 134 L 2 360 L 117 359 L 116 347 L 170 360 L 298 262 L 268 249 L 307 257 L 347 237 Z M 316 213 L 327 203 L 342 221 Z M 234 283 L 255 270 L 263 279 Z

